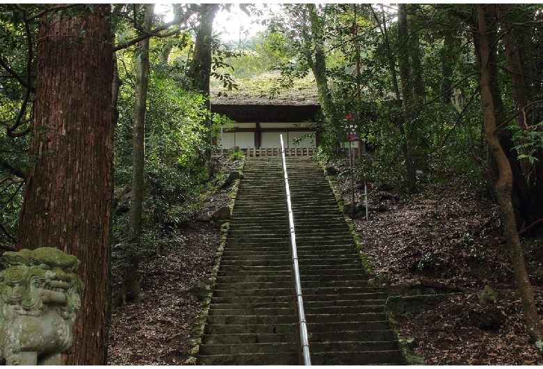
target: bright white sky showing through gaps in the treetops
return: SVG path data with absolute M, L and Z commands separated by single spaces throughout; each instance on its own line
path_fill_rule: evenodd
M 270 6 L 276 6 L 276 4 L 258 3 L 255 4 L 255 6 L 264 9 L 265 6 L 269 8 Z M 166 22 L 173 19 L 170 3 L 157 3 L 155 6 L 155 13 L 165 14 Z M 265 10 L 265 13 L 267 13 L 267 10 Z M 263 31 L 265 29 L 265 26 L 251 22 L 254 22 L 254 19 L 249 18 L 242 10 L 239 10 L 237 4 L 232 4 L 230 12 L 221 10 L 221 12 L 217 14 L 213 25 L 213 31 L 214 33 L 221 33 L 221 39 L 223 41 L 244 40 L 249 36 L 255 35 L 258 31 Z

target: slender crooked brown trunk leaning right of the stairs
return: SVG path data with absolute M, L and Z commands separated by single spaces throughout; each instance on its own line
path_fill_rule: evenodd
M 487 175 L 491 187 L 496 193 L 496 199 L 502 213 L 504 235 L 511 255 L 515 282 L 517 283 L 524 308 L 526 329 L 530 338 L 535 343 L 539 342 L 541 345 L 541 341 L 543 340 L 543 324 L 537 315 L 534 292 L 526 270 L 524 248 L 517 232 L 517 221 L 512 204 L 513 173 L 510 162 L 503 151 L 498 137 L 496 115 L 494 113 L 494 98 L 491 92 L 491 42 L 487 29 L 487 13 L 485 6 L 482 4 L 475 4 L 475 9 L 479 31 L 481 63 L 480 95 L 485 118 L 485 139 L 490 155 L 496 163 L 496 171 L 491 172 L 487 168 Z

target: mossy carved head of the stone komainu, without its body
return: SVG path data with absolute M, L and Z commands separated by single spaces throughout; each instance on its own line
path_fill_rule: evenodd
M 3 254 L 10 267 L 0 272 L 0 297 L 13 313 L 37 316 L 45 306 L 63 318 L 74 318 L 81 306 L 81 279 L 74 273 L 75 256 L 52 247 Z

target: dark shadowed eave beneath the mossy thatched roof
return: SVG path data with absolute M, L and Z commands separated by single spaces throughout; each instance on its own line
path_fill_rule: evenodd
M 301 123 L 315 120 L 320 105 L 211 104 L 211 111 L 237 123 Z

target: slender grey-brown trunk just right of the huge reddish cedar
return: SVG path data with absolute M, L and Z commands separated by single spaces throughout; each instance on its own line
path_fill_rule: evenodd
M 145 5 L 145 29 L 151 29 L 155 4 Z M 134 127 L 132 129 L 132 192 L 128 221 L 128 244 L 125 250 L 125 276 L 123 280 L 123 302 L 127 299 L 141 301 L 147 297 L 139 285 L 139 259 L 141 248 L 141 214 L 145 193 L 145 110 L 149 81 L 149 39 L 140 41 L 136 47 L 136 86 L 134 99 Z

